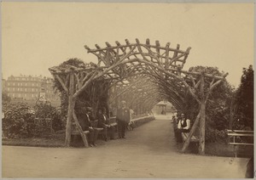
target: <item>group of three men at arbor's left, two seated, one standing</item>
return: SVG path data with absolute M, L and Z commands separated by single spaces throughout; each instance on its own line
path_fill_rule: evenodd
M 125 107 L 126 102 L 121 101 L 121 107 L 117 111 L 116 121 L 119 132 L 119 138 L 125 138 L 125 129 L 131 121 L 130 110 Z M 99 109 L 96 118 L 92 115 L 92 109 L 87 107 L 78 114 L 79 124 L 83 131 L 89 131 L 89 145 L 96 146 L 98 134 L 103 128 L 102 136 L 105 141 L 114 138 L 115 127 L 111 126 L 106 108 Z

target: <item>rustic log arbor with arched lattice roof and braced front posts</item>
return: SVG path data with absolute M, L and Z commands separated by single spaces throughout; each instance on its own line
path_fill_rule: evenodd
M 182 70 L 190 48 L 183 51 L 180 50 L 178 44 L 176 48 L 170 48 L 170 42 L 167 42 L 165 47 L 161 47 L 159 41 L 151 45 L 149 39 L 146 40 L 146 43 L 141 43 L 138 39 L 135 43 L 130 43 L 125 39 L 124 45 L 116 42 L 116 45 L 111 46 L 106 42 L 106 48 L 100 48 L 97 44 L 96 49 L 90 49 L 87 46 L 84 48 L 87 49 L 88 53 L 96 55 L 97 65 L 90 63 L 87 66 L 81 65 L 79 68 L 71 65 L 67 65 L 65 68 L 60 66 L 49 68 L 51 74 L 61 83 L 65 93 L 68 94 L 67 146 L 70 144 L 72 121 L 76 123 L 79 129 L 84 146 L 88 146 L 75 114 L 74 106 L 79 94 L 83 93 L 90 83 L 104 79 L 111 82 L 113 89 L 116 89 L 113 90 L 113 93 L 117 97 L 119 97 L 117 93 L 124 95 L 125 92 L 131 92 L 131 88 L 135 87 L 141 103 L 145 100 L 143 106 L 147 107 L 149 104 L 148 108 L 150 106 L 152 108 L 154 104 L 160 101 L 161 97 L 166 97 L 178 110 L 182 110 L 184 94 L 189 92 L 200 104 L 201 109 L 182 151 L 184 152 L 188 147 L 195 128 L 200 124 L 199 152 L 204 154 L 207 98 L 212 89 L 224 81 L 227 74 L 213 76 L 205 71 Z M 136 81 L 136 79 L 140 79 L 140 81 Z M 144 82 L 141 79 L 144 79 Z

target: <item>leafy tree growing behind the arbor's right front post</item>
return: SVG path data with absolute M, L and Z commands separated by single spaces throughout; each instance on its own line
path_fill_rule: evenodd
M 195 70 L 201 72 L 205 70 L 206 73 L 214 76 L 221 76 L 224 72 L 220 72 L 217 67 L 204 67 L 195 66 L 189 68 L 189 71 Z M 208 84 L 211 79 L 206 77 L 205 82 Z M 191 82 L 188 82 L 191 83 Z M 207 86 L 205 86 L 205 92 L 207 92 Z M 206 107 L 206 140 L 217 141 L 225 138 L 224 129 L 229 126 L 230 121 L 230 103 L 231 97 L 234 93 L 234 87 L 231 87 L 229 82 L 221 82 L 217 88 L 212 90 Z M 191 119 L 192 123 L 195 121 L 195 117 L 200 109 L 199 104 L 195 101 L 191 95 L 187 95 L 185 114 Z

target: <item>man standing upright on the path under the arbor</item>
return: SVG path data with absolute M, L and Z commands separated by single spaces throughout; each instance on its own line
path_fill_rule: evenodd
M 130 122 L 130 110 L 126 108 L 126 102 L 121 101 L 121 108 L 117 110 L 116 121 L 118 123 L 119 138 L 125 138 L 125 129 Z

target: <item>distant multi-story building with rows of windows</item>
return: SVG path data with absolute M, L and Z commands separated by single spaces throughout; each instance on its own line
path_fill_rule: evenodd
M 40 94 L 52 104 L 60 104 L 60 96 L 53 89 L 52 79 L 43 76 L 9 76 L 5 89 L 12 101 L 37 102 Z

